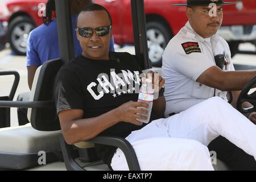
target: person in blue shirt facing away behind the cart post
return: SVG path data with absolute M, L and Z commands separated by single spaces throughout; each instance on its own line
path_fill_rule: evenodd
M 82 7 L 93 3 L 92 0 L 69 0 L 71 3 L 72 30 L 74 38 L 75 56 L 82 53 L 79 40 L 76 36 L 76 19 Z M 110 40 L 110 51 L 114 52 L 114 39 Z M 55 0 L 48 0 L 46 4 L 46 16 L 43 16 L 43 24 L 30 32 L 27 42 L 27 78 L 28 87 L 31 90 L 35 72 L 44 62 L 60 57 L 59 40 L 57 36 L 57 21 Z M 18 101 L 28 101 L 30 92 L 20 93 Z M 19 125 L 28 123 L 27 109 L 18 108 Z

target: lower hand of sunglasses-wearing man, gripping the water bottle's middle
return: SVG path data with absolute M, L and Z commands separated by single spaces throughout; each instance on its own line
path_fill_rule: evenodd
M 138 109 L 137 107 L 148 108 L 148 104 L 143 102 L 129 101 L 117 107 L 117 109 L 115 109 L 115 113 L 118 121 L 129 122 L 133 123 L 134 125 L 142 125 L 142 122 L 137 121 L 137 119 L 146 120 L 147 117 L 138 114 L 147 114 L 148 111 L 145 109 Z

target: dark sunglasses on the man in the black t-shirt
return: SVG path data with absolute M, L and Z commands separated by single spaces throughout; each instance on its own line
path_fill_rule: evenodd
M 79 32 L 79 35 L 89 38 L 93 35 L 93 31 L 96 33 L 97 36 L 105 36 L 108 35 L 112 26 L 109 27 L 98 27 L 98 28 L 90 28 L 90 27 L 84 27 L 84 28 L 76 28 L 76 31 Z

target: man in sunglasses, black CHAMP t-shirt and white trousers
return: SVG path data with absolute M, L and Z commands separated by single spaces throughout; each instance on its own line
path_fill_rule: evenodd
M 97 135 L 126 138 L 142 170 L 213 170 L 206 146 L 220 134 L 256 156 L 256 127 L 219 98 L 167 119 L 137 121 L 147 114 L 138 107 L 148 107 L 137 102 L 142 71 L 129 53 L 109 52 L 111 37 L 108 11 L 96 4 L 85 7 L 77 19 L 82 55 L 65 64 L 56 78 L 57 113 L 67 143 Z M 154 84 L 162 88 L 164 80 L 158 80 Z M 163 115 L 165 105 L 159 96 L 152 111 Z M 119 148 L 96 145 L 96 152 L 114 170 L 128 169 Z

